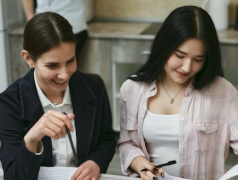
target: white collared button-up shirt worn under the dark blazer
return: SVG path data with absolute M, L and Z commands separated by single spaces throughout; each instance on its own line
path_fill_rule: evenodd
M 59 105 L 54 105 L 50 102 L 50 100 L 44 95 L 41 88 L 39 87 L 36 75 L 34 72 L 34 79 L 36 83 L 37 93 L 43 107 L 44 113 L 49 110 L 58 111 L 58 112 L 66 112 L 67 114 L 73 113 L 73 107 L 71 103 L 71 97 L 69 94 L 69 86 L 67 86 L 64 94 L 63 103 Z M 77 143 L 76 143 L 76 129 L 74 119 L 71 121 L 74 127 L 74 132 L 71 133 L 71 137 L 74 143 L 75 150 L 77 151 Z M 54 140 L 51 138 L 52 142 L 52 153 L 53 153 L 53 165 L 54 166 L 75 166 L 73 151 L 70 145 L 70 141 L 68 135 L 65 138 L 60 138 L 58 140 Z

